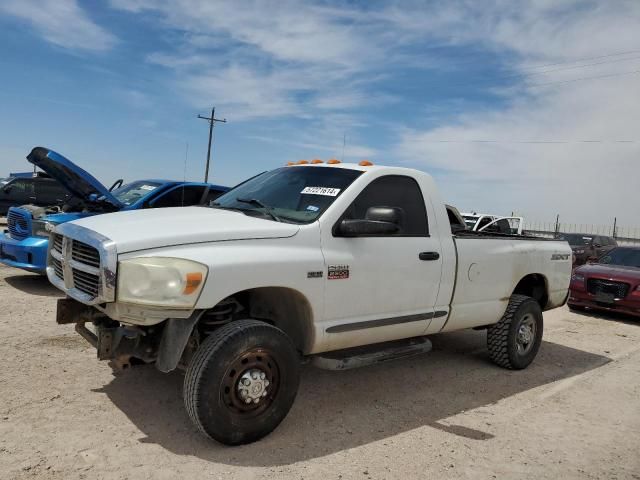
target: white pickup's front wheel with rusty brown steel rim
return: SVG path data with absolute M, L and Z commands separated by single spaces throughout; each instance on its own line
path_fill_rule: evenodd
M 240 445 L 282 422 L 299 381 L 300 360 L 289 337 L 267 323 L 238 320 L 196 351 L 184 379 L 184 403 L 202 433 Z

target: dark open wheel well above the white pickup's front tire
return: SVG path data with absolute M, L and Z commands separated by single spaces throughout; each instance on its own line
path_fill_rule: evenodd
M 237 305 L 229 320 L 252 318 L 278 327 L 291 339 L 297 350 L 310 351 L 313 340 L 313 313 L 307 298 L 297 290 L 286 287 L 261 287 L 237 292 L 210 310 L 216 313 L 221 305 Z M 207 321 L 207 315 L 201 322 Z

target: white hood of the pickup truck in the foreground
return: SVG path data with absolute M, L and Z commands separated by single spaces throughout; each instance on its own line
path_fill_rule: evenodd
M 116 244 L 118 253 L 193 243 L 292 237 L 298 225 L 207 207 L 174 207 L 96 215 L 65 223 L 93 230 Z

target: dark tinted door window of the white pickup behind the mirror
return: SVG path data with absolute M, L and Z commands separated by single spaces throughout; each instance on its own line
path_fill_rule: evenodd
M 371 207 L 394 207 L 401 212 L 400 229 L 390 236 L 429 235 L 427 211 L 418 183 L 411 177 L 387 175 L 371 182 L 347 208 L 342 219 L 365 220 Z

